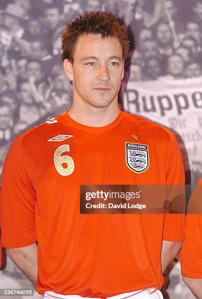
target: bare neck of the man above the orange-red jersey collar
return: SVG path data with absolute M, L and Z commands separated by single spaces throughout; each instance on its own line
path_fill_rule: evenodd
M 118 107 L 118 99 L 114 99 L 107 107 L 94 107 L 73 101 L 73 105 L 69 110 L 70 117 L 76 122 L 90 127 L 104 127 L 114 121 L 120 110 Z

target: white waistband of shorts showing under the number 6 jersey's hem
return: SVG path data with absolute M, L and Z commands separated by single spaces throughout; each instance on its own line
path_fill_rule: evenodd
M 153 292 L 156 291 L 156 288 L 151 287 L 151 288 L 147 288 L 145 290 L 139 290 L 139 291 L 134 291 L 134 292 L 129 292 L 129 293 L 123 293 L 123 294 L 119 294 L 116 296 L 112 296 L 112 297 L 107 297 L 108 299 L 130 299 L 133 295 L 138 296 L 139 294 L 142 296 L 143 294 L 151 294 Z M 129 298 L 128 298 L 129 297 Z M 81 297 L 79 295 L 61 295 L 61 294 L 56 294 L 52 291 L 48 291 L 45 292 L 44 294 L 44 298 L 63 298 L 63 299 L 92 299 L 89 297 Z M 138 297 L 135 297 L 138 298 Z M 95 299 L 101 299 L 101 298 L 95 298 Z

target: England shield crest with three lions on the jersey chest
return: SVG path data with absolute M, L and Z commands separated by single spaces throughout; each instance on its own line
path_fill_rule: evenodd
M 147 144 L 129 143 L 126 145 L 126 165 L 136 173 L 144 172 L 149 167 L 149 152 Z

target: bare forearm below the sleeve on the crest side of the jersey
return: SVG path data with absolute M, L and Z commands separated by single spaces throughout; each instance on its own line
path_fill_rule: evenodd
M 171 261 L 177 256 L 179 253 L 183 242 L 174 242 L 174 241 L 164 241 L 162 244 L 161 250 L 161 266 L 162 273 L 165 272 L 166 268 L 169 266 Z

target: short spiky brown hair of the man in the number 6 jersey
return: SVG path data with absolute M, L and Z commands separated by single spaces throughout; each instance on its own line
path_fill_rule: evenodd
M 125 24 L 121 24 L 116 16 L 103 11 L 86 11 L 73 21 L 66 23 L 62 34 L 62 61 L 69 59 L 73 63 L 73 54 L 79 36 L 101 34 L 102 38 L 117 37 L 121 43 L 123 58 L 129 51 L 129 41 Z

